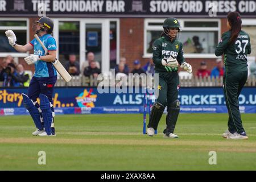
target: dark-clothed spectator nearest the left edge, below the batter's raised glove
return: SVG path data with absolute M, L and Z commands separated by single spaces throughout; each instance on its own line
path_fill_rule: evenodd
M 3 81 L 3 86 L 20 86 L 20 83 L 14 79 L 14 76 L 19 76 L 15 69 L 16 67 L 13 63 L 7 64 L 7 67 L 2 69 L 0 72 L 0 81 Z

